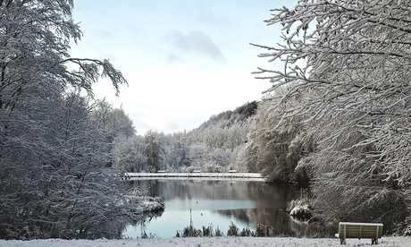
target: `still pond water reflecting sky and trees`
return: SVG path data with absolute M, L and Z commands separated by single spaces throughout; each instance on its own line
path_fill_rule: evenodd
M 133 180 L 130 186 L 147 188 L 147 194 L 164 200 L 164 213 L 135 226 L 127 226 L 124 237 L 140 238 L 142 233 L 171 238 L 190 225 L 217 227 L 223 234 L 233 222 L 241 230 L 256 230 L 258 224 L 278 235 L 293 235 L 306 226 L 294 222 L 286 212 L 296 190 L 279 184 L 247 180 Z

